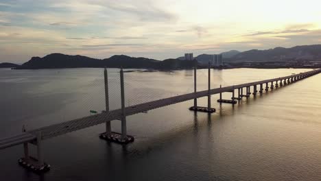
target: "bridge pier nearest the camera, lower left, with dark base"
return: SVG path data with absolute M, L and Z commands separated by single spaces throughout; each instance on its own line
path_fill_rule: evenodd
M 25 132 L 25 128 L 23 127 L 23 132 Z M 18 160 L 19 165 L 22 167 L 25 167 L 25 169 L 28 169 L 30 171 L 34 171 L 36 173 L 43 173 L 46 171 L 49 171 L 50 165 L 45 163 L 43 161 L 43 144 L 42 144 L 42 134 L 41 132 L 37 133 L 36 136 L 36 142 L 33 143 L 37 146 L 37 156 L 38 158 L 34 158 L 32 156 L 29 156 L 29 143 L 23 143 L 23 149 L 24 149 L 24 158 L 20 158 Z

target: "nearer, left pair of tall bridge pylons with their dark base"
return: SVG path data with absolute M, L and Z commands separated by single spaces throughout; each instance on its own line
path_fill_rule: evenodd
M 105 76 L 105 77 L 107 78 L 107 76 Z M 130 142 L 133 142 L 134 137 L 127 135 L 123 69 L 121 69 L 121 71 L 120 71 L 120 80 L 121 80 L 121 134 L 119 134 L 117 132 L 111 132 L 110 121 L 106 121 L 106 132 L 99 134 L 99 138 L 102 138 L 107 141 L 112 141 L 115 143 L 127 144 Z M 105 79 L 105 82 L 106 82 L 106 79 Z M 108 89 L 108 87 L 107 87 L 107 89 Z M 106 89 L 105 89 L 105 93 L 106 93 Z M 108 97 L 108 90 L 107 90 L 106 97 Z M 106 102 L 107 101 L 108 100 L 106 98 Z M 106 112 L 109 111 L 109 110 L 107 110 L 108 106 L 109 105 L 106 103 Z M 109 123 L 107 123 L 107 122 L 109 122 Z

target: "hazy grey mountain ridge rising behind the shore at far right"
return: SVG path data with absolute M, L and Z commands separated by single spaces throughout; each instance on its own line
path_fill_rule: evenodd
M 304 45 L 292 48 L 243 51 L 226 59 L 227 62 L 287 62 L 293 60 L 321 61 L 321 45 Z

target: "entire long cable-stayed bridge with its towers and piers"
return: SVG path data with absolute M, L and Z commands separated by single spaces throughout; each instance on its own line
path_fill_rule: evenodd
M 121 82 L 121 108 L 117 110 L 109 110 L 108 102 L 108 73 L 104 70 L 104 83 L 105 83 L 105 98 L 106 98 L 106 111 L 91 115 L 88 117 L 82 117 L 80 119 L 74 119 L 71 121 L 65 121 L 63 123 L 57 123 L 49 125 L 43 128 L 38 128 L 36 130 L 26 131 L 23 128 L 21 134 L 14 136 L 9 136 L 7 138 L 0 139 L 0 149 L 5 149 L 12 147 L 14 145 L 23 144 L 24 157 L 19 159 L 19 164 L 27 169 L 31 169 L 36 172 L 48 171 L 50 165 L 43 161 L 43 149 L 42 142 L 46 139 L 53 138 L 55 136 L 60 136 L 62 134 L 67 134 L 69 132 L 74 132 L 84 128 L 91 127 L 93 125 L 99 125 L 105 123 L 106 132 L 99 134 L 99 137 L 107 141 L 112 141 L 116 143 L 126 144 L 134 141 L 134 137 L 127 134 L 126 128 L 126 117 L 138 114 L 140 112 L 146 112 L 148 110 L 153 110 L 156 108 L 161 108 L 164 106 L 169 106 L 171 104 L 177 104 L 182 101 L 188 101 L 193 99 L 193 106 L 189 108 L 193 111 L 202 112 L 215 112 L 214 108 L 211 108 L 211 95 L 219 94 L 219 99 L 217 102 L 219 104 L 228 103 L 236 104 L 237 101 L 241 101 L 243 97 L 250 97 L 250 95 L 256 96 L 257 94 L 262 94 L 263 91 L 269 91 L 274 88 L 285 86 L 287 84 L 292 84 L 299 80 L 303 80 L 312 75 L 316 75 L 321 72 L 321 69 L 316 69 L 313 71 L 308 71 L 305 73 L 298 73 L 295 75 L 289 75 L 285 77 L 277 77 L 270 80 L 261 80 L 258 82 L 250 82 L 246 84 L 238 84 L 233 86 L 226 86 L 219 88 L 211 88 L 211 71 L 209 65 L 209 85 L 208 90 L 197 91 L 196 87 L 196 73 L 197 70 L 194 68 L 194 91 L 193 93 L 187 93 L 185 95 L 178 95 L 174 97 L 168 97 L 165 99 L 158 99 L 156 101 L 149 101 L 143 104 L 136 104 L 134 106 L 125 106 L 125 95 L 124 95 L 124 80 L 123 80 L 123 69 L 120 71 L 120 82 Z M 252 87 L 252 89 L 251 89 Z M 245 89 L 245 90 L 244 90 Z M 250 93 L 250 90 L 253 90 Z M 232 93 L 231 99 L 222 99 L 222 93 Z M 236 95 L 237 93 L 237 95 Z M 208 97 L 208 105 L 206 107 L 198 106 L 198 98 Z M 110 121 L 120 120 L 121 121 L 121 133 L 112 132 Z M 36 145 L 38 151 L 38 158 L 29 156 L 29 144 Z

